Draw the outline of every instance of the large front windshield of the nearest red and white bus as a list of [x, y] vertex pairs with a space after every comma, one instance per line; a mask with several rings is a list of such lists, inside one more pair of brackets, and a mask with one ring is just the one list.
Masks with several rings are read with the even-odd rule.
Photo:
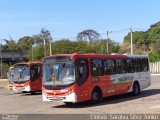
[[73, 63], [53, 60], [43, 64], [43, 85], [63, 86], [75, 82], [75, 67]]

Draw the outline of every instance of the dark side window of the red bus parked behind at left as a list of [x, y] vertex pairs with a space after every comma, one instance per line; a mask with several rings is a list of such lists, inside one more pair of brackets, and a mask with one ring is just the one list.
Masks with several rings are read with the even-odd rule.
[[31, 79], [32, 81], [40, 77], [40, 65], [31, 66]]

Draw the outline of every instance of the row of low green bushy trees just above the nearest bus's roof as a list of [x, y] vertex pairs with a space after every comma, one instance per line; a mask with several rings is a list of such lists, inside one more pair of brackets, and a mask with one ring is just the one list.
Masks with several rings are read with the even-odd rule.
[[[68, 39], [61, 39], [52, 43], [53, 54], [72, 54], [75, 52], [80, 53], [106, 53], [107, 40], [94, 41], [92, 44], [88, 44], [86, 41], [72, 41]], [[110, 40], [109, 51], [110, 53], [117, 53], [120, 49], [118, 43]], [[33, 51], [32, 51], [33, 50]], [[34, 60], [41, 60], [44, 57], [44, 46], [38, 45], [29, 51], [29, 59], [32, 60], [32, 53]], [[49, 55], [49, 44], [46, 45], [46, 53]]]

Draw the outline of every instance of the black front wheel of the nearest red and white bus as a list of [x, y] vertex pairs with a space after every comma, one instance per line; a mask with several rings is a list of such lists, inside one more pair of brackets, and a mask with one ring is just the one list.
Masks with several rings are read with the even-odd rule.
[[102, 92], [100, 89], [93, 90], [91, 101], [93, 104], [97, 104], [102, 101]]

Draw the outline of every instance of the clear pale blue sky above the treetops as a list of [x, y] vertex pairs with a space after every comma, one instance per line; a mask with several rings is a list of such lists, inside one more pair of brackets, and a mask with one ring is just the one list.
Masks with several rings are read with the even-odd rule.
[[123, 42], [129, 28], [145, 31], [160, 21], [160, 0], [0, 0], [0, 39], [39, 34], [75, 40], [93, 29], [101, 38]]

